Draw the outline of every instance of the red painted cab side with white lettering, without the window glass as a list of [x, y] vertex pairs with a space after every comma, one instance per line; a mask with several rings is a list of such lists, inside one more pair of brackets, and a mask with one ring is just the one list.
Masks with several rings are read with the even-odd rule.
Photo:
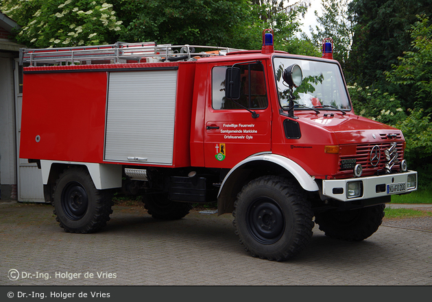
[[[259, 57], [263, 64], [268, 59], [268, 56], [259, 55]], [[193, 104], [195, 119], [191, 129], [193, 166], [232, 168], [250, 155], [272, 151], [272, 101], [269, 101], [267, 108], [254, 110], [260, 114], [259, 118], [252, 118], [252, 114], [243, 109], [215, 110], [212, 108], [212, 68], [234, 64], [231, 61], [238, 59], [237, 55], [230, 55], [223, 60], [209, 58], [197, 63], [198, 82], [195, 82]], [[268, 91], [267, 95], [269, 95]], [[208, 127], [219, 128], [208, 129]], [[224, 158], [218, 160], [219, 151], [224, 151]]]

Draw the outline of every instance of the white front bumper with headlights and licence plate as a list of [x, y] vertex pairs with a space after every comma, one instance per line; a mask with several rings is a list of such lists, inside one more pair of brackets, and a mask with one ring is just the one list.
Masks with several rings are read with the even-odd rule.
[[[408, 176], [415, 177], [415, 182], [408, 182]], [[352, 185], [359, 185], [358, 194], [350, 196]], [[405, 184], [405, 188], [404, 188]], [[411, 186], [409, 186], [411, 184]], [[386, 174], [380, 176], [356, 177], [350, 179], [325, 179], [322, 181], [322, 195], [338, 201], [356, 201], [386, 197], [392, 194], [406, 194], [417, 190], [418, 179], [416, 171]], [[351, 190], [352, 192], [352, 190]]]

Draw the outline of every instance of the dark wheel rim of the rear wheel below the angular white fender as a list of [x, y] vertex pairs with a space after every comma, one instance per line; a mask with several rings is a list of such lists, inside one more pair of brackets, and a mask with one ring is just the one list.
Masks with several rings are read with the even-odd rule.
[[77, 182], [67, 184], [62, 192], [62, 209], [66, 216], [73, 220], [80, 220], [87, 212], [88, 195], [86, 190]]

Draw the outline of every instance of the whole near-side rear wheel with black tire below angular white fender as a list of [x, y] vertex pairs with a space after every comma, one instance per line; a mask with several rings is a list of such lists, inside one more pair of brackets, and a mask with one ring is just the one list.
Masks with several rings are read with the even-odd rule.
[[71, 167], [58, 177], [53, 194], [56, 221], [64, 231], [92, 233], [110, 220], [111, 194], [97, 190], [85, 168]]

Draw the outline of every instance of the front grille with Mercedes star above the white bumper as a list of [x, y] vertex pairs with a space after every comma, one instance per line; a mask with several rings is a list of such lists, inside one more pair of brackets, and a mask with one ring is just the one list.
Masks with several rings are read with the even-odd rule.
[[[346, 162], [354, 162], [355, 164], [361, 164], [363, 168], [363, 176], [373, 175], [375, 173], [385, 173], [385, 164], [387, 163], [387, 159], [385, 156], [385, 150], [389, 150], [392, 147], [393, 142], [381, 142], [381, 143], [370, 143], [370, 144], [358, 144], [355, 155], [346, 155], [339, 157], [338, 164], [338, 174], [342, 175], [352, 175], [353, 171], [350, 165], [347, 165]], [[376, 162], [376, 166], [373, 166], [370, 162], [370, 153], [372, 149], [378, 146], [380, 149], [380, 159], [379, 162]], [[403, 142], [396, 142], [396, 151], [397, 151], [397, 161], [401, 162], [403, 160]], [[346, 168], [348, 166], [349, 168]], [[392, 167], [392, 173], [399, 171], [399, 165], [394, 164]]]

